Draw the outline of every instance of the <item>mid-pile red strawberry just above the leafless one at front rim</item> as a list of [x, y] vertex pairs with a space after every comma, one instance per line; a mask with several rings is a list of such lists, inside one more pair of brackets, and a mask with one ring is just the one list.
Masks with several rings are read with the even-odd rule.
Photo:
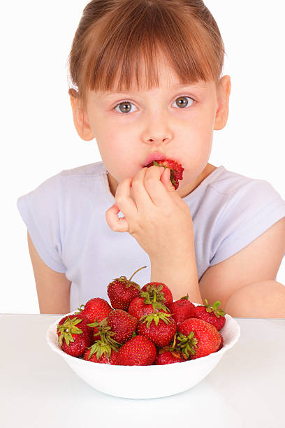
[[[114, 341], [118, 343], [125, 343], [135, 333], [138, 320], [129, 313], [122, 309], [115, 309], [110, 312], [108, 317], [101, 322], [101, 324], [108, 324], [110, 330], [115, 334], [112, 336]], [[105, 326], [103, 324], [103, 327]]]

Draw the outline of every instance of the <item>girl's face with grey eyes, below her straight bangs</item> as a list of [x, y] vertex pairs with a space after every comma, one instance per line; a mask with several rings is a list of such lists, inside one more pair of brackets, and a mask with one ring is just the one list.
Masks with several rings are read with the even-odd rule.
[[[224, 116], [230, 77], [221, 79], [224, 84], [219, 91], [214, 82], [202, 80], [180, 87], [175, 73], [166, 64], [159, 64], [159, 88], [125, 93], [89, 92], [86, 114], [90, 134], [96, 138], [109, 172], [113, 196], [117, 184], [135, 176], [153, 152], [182, 164], [183, 180], [177, 189], [181, 197], [214, 169], [207, 162], [213, 130], [224, 127], [228, 117], [228, 111]], [[224, 121], [217, 117], [217, 112], [224, 112]]]

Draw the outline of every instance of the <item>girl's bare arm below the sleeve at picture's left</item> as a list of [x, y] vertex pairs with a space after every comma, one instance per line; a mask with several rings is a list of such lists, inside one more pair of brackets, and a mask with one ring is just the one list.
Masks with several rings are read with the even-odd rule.
[[69, 313], [71, 281], [66, 278], [64, 273], [53, 271], [43, 262], [31, 241], [29, 232], [28, 245], [40, 313]]

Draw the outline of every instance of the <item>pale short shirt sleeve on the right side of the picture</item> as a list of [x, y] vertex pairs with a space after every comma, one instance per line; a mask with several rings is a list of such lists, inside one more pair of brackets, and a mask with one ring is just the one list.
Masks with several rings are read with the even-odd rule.
[[217, 222], [210, 266], [242, 250], [284, 216], [285, 201], [267, 181], [251, 180], [235, 190]]

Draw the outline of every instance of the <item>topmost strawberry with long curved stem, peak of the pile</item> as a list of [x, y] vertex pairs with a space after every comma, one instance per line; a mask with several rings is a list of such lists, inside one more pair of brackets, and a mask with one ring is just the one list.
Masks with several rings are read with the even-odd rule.
[[[144, 269], [147, 266], [143, 266], [140, 269]], [[140, 271], [138, 269], [133, 276]], [[120, 276], [115, 278], [107, 287], [108, 296], [111, 302], [111, 305], [114, 309], [123, 309], [127, 311], [131, 301], [140, 294], [140, 285], [126, 279], [126, 276]]]

